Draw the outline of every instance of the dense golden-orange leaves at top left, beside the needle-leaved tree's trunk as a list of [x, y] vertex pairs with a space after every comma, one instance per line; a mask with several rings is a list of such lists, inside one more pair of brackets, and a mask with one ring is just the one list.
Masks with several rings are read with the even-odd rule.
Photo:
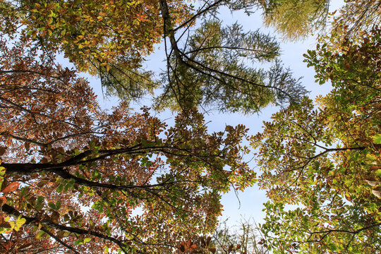
[[[13, 2], [11, 2], [13, 4]], [[135, 67], [162, 36], [156, 1], [17, 1], [25, 32], [50, 49], [63, 51], [81, 71], [112, 65]], [[169, 1], [174, 22], [188, 7]], [[181, 9], [182, 12], [176, 11]], [[181, 14], [182, 13], [182, 14]]]

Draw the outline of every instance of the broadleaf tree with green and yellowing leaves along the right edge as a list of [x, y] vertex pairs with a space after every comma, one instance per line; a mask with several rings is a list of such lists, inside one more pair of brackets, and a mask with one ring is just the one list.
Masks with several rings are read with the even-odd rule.
[[334, 32], [308, 51], [317, 82], [333, 90], [279, 111], [252, 138], [274, 253], [380, 252], [380, 32]]

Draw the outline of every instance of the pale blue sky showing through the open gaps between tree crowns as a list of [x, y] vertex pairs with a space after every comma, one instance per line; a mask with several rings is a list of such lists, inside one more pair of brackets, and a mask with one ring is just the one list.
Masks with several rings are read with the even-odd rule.
[[[339, 6], [344, 4], [343, 0], [332, 0], [330, 11], [334, 11]], [[330, 85], [318, 85], [314, 82], [315, 72], [313, 68], [307, 68], [306, 63], [303, 62], [303, 54], [306, 54], [308, 49], [315, 49], [316, 36], [313, 35], [308, 37], [306, 40], [299, 42], [282, 42], [279, 35], [277, 35], [274, 30], [271, 28], [265, 28], [262, 25], [262, 20], [260, 12], [254, 13], [254, 15], [246, 16], [243, 12], [231, 13], [229, 10], [221, 10], [220, 16], [224, 23], [231, 24], [236, 21], [243, 25], [244, 30], [257, 30], [260, 28], [262, 32], [269, 33], [279, 38], [281, 42], [282, 55], [281, 59], [285, 67], [291, 68], [294, 73], [295, 78], [303, 77], [301, 82], [310, 91], [310, 98], [315, 98], [317, 95], [325, 95], [330, 90]], [[165, 69], [164, 62], [164, 47], [162, 44], [155, 46], [155, 53], [147, 57], [146, 66], [148, 69], [159, 72], [160, 69]], [[102, 89], [100, 81], [97, 78], [92, 78], [88, 75], [85, 75], [90, 81], [90, 85], [94, 87], [96, 94], [99, 98], [99, 104], [104, 109], [110, 109], [112, 106], [118, 104], [118, 99], [115, 97], [104, 98], [102, 95]], [[138, 104], [133, 104], [132, 106], [135, 109], [139, 109], [149, 102], [143, 100]], [[205, 120], [208, 123], [209, 131], [222, 131], [226, 125], [235, 126], [236, 124], [243, 124], [250, 129], [249, 134], [255, 135], [256, 133], [262, 131], [262, 122], [270, 121], [270, 117], [274, 114], [279, 108], [270, 106], [262, 111], [259, 114], [253, 115], [243, 115], [243, 114], [220, 114], [217, 111], [210, 111], [205, 114]], [[164, 111], [158, 114], [159, 119], [166, 119], [166, 122], [173, 122], [174, 116], [176, 114], [171, 113], [170, 111]], [[247, 144], [248, 145], [248, 144]], [[250, 166], [253, 167], [253, 170], [258, 171], [255, 168], [255, 162], [251, 162]], [[252, 188], [247, 188], [243, 192], [235, 193], [231, 191], [222, 197], [222, 205], [224, 205], [224, 211], [222, 213], [222, 218], [220, 221], [228, 219], [227, 224], [233, 226], [234, 224], [239, 224], [241, 219], [251, 219], [257, 223], [262, 223], [263, 218], [265, 217], [263, 209], [263, 203], [267, 202], [265, 196], [265, 191], [258, 189], [258, 186]]]

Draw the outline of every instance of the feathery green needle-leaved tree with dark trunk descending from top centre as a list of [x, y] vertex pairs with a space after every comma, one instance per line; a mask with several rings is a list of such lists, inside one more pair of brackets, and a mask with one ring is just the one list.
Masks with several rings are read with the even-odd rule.
[[[190, 20], [174, 26], [167, 1], [160, 0], [164, 20], [167, 71], [164, 93], [157, 97], [158, 109], [186, 109], [201, 105], [220, 111], [258, 112], [270, 103], [294, 103], [306, 90], [279, 63], [279, 44], [259, 31], [244, 32], [241, 25], [222, 26], [213, 16], [205, 18], [200, 28], [186, 37], [189, 23], [219, 6], [242, 8], [241, 1], [215, 1], [205, 4]], [[183, 30], [186, 30], [185, 32]], [[176, 37], [177, 33], [179, 37]], [[272, 63], [265, 71], [246, 64]]]

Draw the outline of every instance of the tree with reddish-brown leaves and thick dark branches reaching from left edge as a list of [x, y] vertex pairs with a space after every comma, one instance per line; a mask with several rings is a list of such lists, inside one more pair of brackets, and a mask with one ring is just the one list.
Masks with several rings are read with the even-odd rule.
[[253, 184], [244, 126], [107, 113], [54, 54], [28, 41], [0, 51], [2, 252], [173, 253], [214, 230], [221, 193]]

